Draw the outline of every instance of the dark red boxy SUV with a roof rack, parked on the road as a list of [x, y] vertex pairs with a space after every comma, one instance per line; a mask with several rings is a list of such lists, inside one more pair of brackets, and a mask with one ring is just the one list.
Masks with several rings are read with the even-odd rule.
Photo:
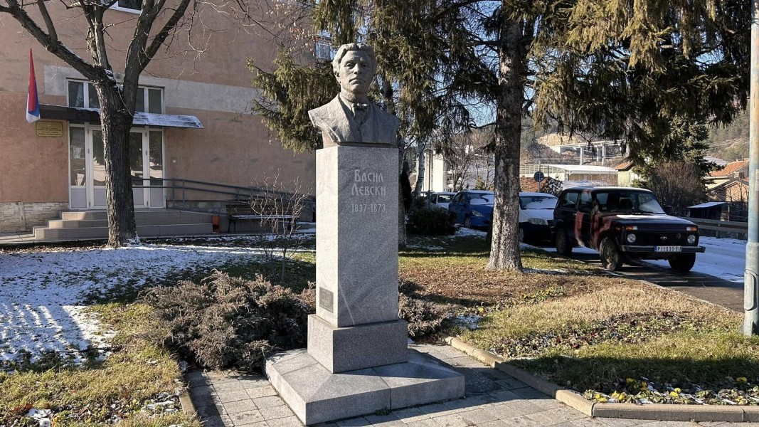
[[666, 259], [669, 267], [689, 271], [696, 262], [698, 226], [671, 217], [644, 188], [580, 187], [559, 195], [553, 210], [556, 251], [572, 247], [598, 251], [601, 264], [617, 270], [631, 259]]

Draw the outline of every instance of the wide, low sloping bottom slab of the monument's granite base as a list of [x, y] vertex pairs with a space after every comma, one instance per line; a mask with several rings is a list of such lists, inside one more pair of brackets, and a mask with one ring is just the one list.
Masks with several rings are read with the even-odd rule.
[[277, 353], [266, 376], [305, 425], [464, 396], [464, 375], [432, 356], [408, 351], [408, 362], [333, 374], [305, 349]]

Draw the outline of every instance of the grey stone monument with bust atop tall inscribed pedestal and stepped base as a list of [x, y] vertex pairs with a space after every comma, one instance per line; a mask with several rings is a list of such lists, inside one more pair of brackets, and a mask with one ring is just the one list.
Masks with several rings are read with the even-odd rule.
[[317, 314], [307, 350], [277, 353], [266, 375], [306, 425], [464, 395], [464, 377], [408, 349], [398, 318], [398, 119], [367, 93], [364, 44], [332, 62], [340, 93], [309, 116], [317, 150]]

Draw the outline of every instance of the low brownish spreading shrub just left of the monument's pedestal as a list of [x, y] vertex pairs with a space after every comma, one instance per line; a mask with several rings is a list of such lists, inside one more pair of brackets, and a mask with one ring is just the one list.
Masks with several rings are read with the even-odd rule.
[[270, 350], [306, 342], [307, 302], [261, 276], [214, 270], [200, 283], [150, 289], [144, 299], [168, 325], [165, 344], [206, 368], [259, 369]]

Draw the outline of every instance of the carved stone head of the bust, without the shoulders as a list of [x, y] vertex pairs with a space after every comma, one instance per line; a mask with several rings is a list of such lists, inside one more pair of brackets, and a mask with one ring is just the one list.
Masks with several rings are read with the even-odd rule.
[[376, 71], [374, 49], [364, 43], [340, 46], [332, 60], [332, 71], [340, 84], [340, 94], [350, 101], [366, 102]]

